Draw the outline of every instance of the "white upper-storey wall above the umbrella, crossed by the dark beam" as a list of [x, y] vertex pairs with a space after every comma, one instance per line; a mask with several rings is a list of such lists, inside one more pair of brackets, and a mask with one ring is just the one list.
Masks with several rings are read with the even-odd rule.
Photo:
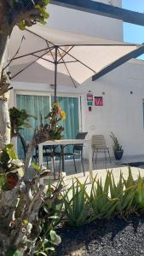
[[[113, 3], [117, 7], [122, 6], [122, 0], [101, 0], [99, 2]], [[46, 26], [88, 36], [123, 41], [122, 20], [114, 20], [53, 4], [48, 5], [48, 13], [49, 19]]]

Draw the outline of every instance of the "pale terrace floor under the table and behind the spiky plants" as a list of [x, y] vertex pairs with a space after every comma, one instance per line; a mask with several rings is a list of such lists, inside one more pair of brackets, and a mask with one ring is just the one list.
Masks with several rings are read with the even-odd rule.
[[[123, 172], [124, 177], [128, 177], [128, 165], [127, 163], [134, 163], [134, 166], [131, 166], [131, 171], [133, 174], [134, 179], [136, 180], [138, 177], [139, 172], [141, 173], [141, 177], [144, 177], [144, 156], [142, 157], [135, 157], [135, 158], [125, 158], [122, 160], [112, 160], [112, 163], [110, 163], [107, 160], [107, 163], [105, 160], [98, 160], [97, 164], [95, 165], [95, 162], [93, 163], [93, 177], [97, 175], [97, 177], [101, 177], [102, 183], [105, 181], [105, 177], [107, 175], [107, 170], [112, 170], [113, 176], [115, 178], [115, 182], [118, 182], [119, 174], [120, 172]], [[83, 169], [81, 166], [80, 160], [77, 160], [76, 162], [78, 173], [74, 172], [74, 166], [73, 166], [73, 161], [68, 160], [65, 163], [65, 170], [66, 172], [62, 173], [65, 178], [64, 182], [67, 187], [71, 186], [72, 184], [72, 179], [74, 177], [78, 177], [78, 179], [84, 183], [85, 179], [87, 178], [87, 184], [90, 188], [90, 180], [89, 180], [89, 163], [88, 160], [84, 161], [84, 169], [85, 169], [85, 177], [83, 173]], [[58, 171], [59, 168], [59, 163], [56, 162], [55, 164], [55, 170]], [[50, 165], [49, 165], [50, 169]], [[51, 176], [53, 178], [53, 174]], [[43, 183], [47, 184], [47, 178], [44, 178]]]

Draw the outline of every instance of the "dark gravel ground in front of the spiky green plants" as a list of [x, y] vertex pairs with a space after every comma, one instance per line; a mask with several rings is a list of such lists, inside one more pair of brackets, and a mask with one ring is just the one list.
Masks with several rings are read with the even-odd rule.
[[144, 256], [144, 216], [98, 220], [80, 228], [63, 226], [56, 256]]

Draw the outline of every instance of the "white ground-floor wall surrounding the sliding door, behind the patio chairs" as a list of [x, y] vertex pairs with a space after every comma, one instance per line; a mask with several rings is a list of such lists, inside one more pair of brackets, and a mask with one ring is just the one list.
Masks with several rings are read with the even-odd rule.
[[[74, 89], [58, 86], [62, 95], [82, 96], [83, 131], [103, 134], [111, 148], [110, 132], [118, 137], [123, 145], [124, 155], [144, 154], [144, 127], [142, 102], [144, 100], [144, 63], [131, 61], [113, 70], [95, 82], [85, 82]], [[49, 84], [29, 84], [13, 82], [14, 90], [53, 91]], [[93, 107], [89, 112], [86, 94], [91, 90], [94, 96], [103, 96], [103, 107]], [[132, 94], [130, 93], [132, 91]], [[13, 94], [13, 92], [11, 92]], [[105, 93], [104, 95], [102, 93]], [[13, 96], [11, 104], [13, 104]]]

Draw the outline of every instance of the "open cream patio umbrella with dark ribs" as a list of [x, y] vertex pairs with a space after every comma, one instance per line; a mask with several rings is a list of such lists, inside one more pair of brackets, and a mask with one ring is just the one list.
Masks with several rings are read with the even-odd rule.
[[58, 73], [69, 75], [77, 87], [77, 83], [83, 84], [113, 61], [140, 47], [139, 44], [90, 38], [46, 26], [33, 26], [24, 32], [15, 27], [9, 44], [9, 65], [14, 70], [13, 79], [36, 63], [54, 71], [56, 101]]

